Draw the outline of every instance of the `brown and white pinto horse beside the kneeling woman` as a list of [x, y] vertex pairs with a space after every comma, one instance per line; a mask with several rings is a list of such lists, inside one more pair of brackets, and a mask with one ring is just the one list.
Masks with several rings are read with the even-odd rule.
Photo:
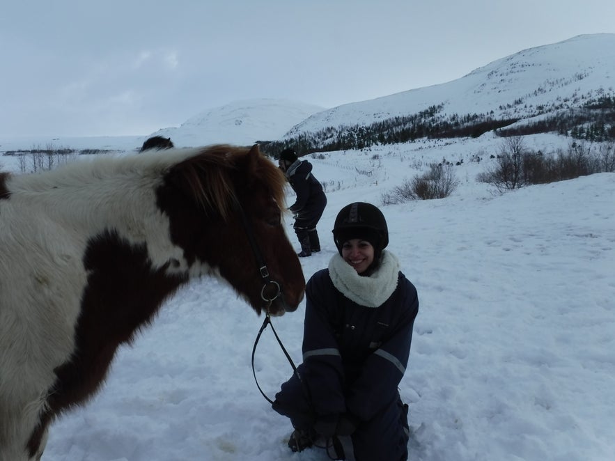
[[54, 419], [189, 280], [227, 281], [258, 315], [295, 311], [285, 181], [256, 145], [0, 173], [0, 461], [40, 460]]

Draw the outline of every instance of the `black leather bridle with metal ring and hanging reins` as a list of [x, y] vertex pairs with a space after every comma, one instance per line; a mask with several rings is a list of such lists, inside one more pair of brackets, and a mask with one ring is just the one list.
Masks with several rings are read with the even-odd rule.
[[[263, 397], [265, 397], [265, 400], [267, 400], [267, 402], [273, 404], [273, 400], [271, 400], [269, 397], [267, 397], [267, 395], [265, 395], [265, 392], [263, 392], [263, 389], [260, 389], [260, 385], [258, 384], [258, 380], [256, 379], [256, 369], [254, 368], [254, 355], [256, 354], [256, 345], [258, 345], [258, 341], [260, 340], [260, 335], [263, 334], [263, 331], [265, 331], [265, 328], [267, 328], [267, 325], [271, 325], [271, 331], [273, 331], [273, 334], [275, 338], [277, 339], [278, 344], [280, 345], [282, 349], [282, 352], [284, 352], [284, 355], [286, 355], [286, 359], [288, 359], [290, 366], [293, 367], [293, 372], [297, 375], [297, 377], [299, 377], [299, 381], [301, 382], [303, 381], [302, 381], [301, 375], [299, 375], [299, 372], [297, 371], [297, 367], [295, 366], [293, 359], [290, 358], [290, 354], [288, 354], [286, 347], [284, 347], [284, 345], [282, 344], [282, 341], [280, 340], [277, 334], [277, 331], [275, 331], [273, 324], [271, 322], [271, 315], [269, 312], [269, 308], [271, 307], [272, 302], [274, 302], [274, 300], [277, 299], [277, 297], [281, 295], [280, 284], [277, 283], [277, 281], [274, 281], [271, 279], [271, 276], [269, 274], [269, 269], [267, 269], [267, 264], [265, 263], [265, 258], [263, 258], [263, 253], [261, 253], [260, 247], [258, 247], [258, 242], [256, 242], [256, 237], [254, 236], [254, 231], [252, 229], [251, 223], [248, 217], [246, 216], [246, 213], [244, 212], [242, 206], [239, 203], [236, 203], [235, 206], [238, 209], [238, 212], [240, 214], [242, 224], [244, 226], [244, 230], [246, 231], [248, 241], [250, 242], [250, 247], [252, 248], [252, 252], [254, 253], [254, 258], [256, 258], [256, 267], [258, 267], [258, 274], [260, 275], [260, 278], [263, 279], [263, 288], [260, 289], [260, 299], [263, 299], [263, 301], [267, 303], [264, 308], [265, 320], [263, 320], [263, 325], [260, 327], [260, 330], [258, 330], [256, 341], [254, 341], [254, 347], [252, 347], [252, 374], [254, 375], [254, 381], [256, 382], [256, 387], [258, 387], [258, 390], [260, 391], [260, 393], [263, 394]], [[265, 288], [271, 285], [276, 288], [275, 295], [273, 297], [266, 297]]]

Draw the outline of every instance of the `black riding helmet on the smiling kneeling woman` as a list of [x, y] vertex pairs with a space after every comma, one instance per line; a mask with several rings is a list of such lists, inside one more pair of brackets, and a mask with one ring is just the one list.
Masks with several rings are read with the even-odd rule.
[[344, 242], [358, 238], [374, 247], [374, 259], [379, 260], [389, 244], [389, 228], [384, 214], [371, 203], [355, 202], [340, 210], [333, 227], [333, 240], [340, 255]]

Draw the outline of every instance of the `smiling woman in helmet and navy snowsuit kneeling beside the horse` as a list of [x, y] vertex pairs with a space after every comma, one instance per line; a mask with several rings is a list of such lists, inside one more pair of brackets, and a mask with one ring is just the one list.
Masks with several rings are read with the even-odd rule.
[[335, 220], [339, 251], [306, 286], [303, 363], [276, 394], [290, 418], [292, 451], [327, 448], [331, 459], [407, 459], [405, 373], [419, 299], [400, 272], [387, 221], [369, 203], [351, 203]]

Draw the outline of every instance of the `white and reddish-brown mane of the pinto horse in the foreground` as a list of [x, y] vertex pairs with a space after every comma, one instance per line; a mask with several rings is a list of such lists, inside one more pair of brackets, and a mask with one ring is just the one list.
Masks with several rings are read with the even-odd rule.
[[[256, 151], [255, 151], [256, 150]], [[236, 173], [236, 174], [234, 174]], [[192, 196], [205, 212], [219, 214], [226, 220], [238, 203], [238, 187], [248, 191], [258, 183], [269, 189], [281, 210], [285, 210], [286, 178], [267, 157], [252, 148], [219, 144], [203, 148], [153, 150], [147, 155], [97, 157], [83, 159], [44, 173], [10, 175], [0, 173], [0, 198], [13, 192], [47, 194], [74, 189], [69, 196], [109, 182], [109, 187], [123, 187], [120, 194], [132, 194], [143, 184], [140, 179], [162, 185], [169, 178]], [[17, 183], [11, 179], [17, 180]], [[114, 180], [120, 182], [113, 183]], [[7, 184], [3, 192], [3, 182]], [[125, 182], [125, 185], [121, 185]], [[110, 191], [109, 191], [110, 192]]]

